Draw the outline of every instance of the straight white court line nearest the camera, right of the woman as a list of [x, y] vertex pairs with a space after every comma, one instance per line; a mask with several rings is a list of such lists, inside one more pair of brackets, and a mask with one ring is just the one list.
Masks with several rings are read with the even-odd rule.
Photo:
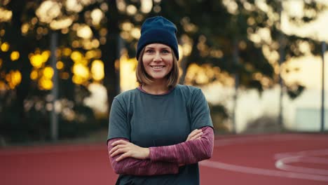
[[213, 160], [203, 160], [200, 162], [200, 165], [206, 167], [214, 167], [221, 170], [229, 170], [233, 172], [242, 172], [247, 174], [261, 174], [271, 177], [288, 177], [293, 179], [307, 179], [307, 180], [315, 180], [315, 181], [328, 181], [327, 176], [319, 175], [319, 174], [303, 174], [298, 172], [285, 172], [280, 170], [268, 170], [264, 168], [258, 167], [247, 167], [242, 165], [231, 165], [227, 163], [221, 163]]

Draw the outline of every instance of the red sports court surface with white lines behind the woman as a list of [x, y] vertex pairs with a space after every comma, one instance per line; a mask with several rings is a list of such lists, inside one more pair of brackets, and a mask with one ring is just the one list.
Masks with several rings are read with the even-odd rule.
[[[0, 184], [115, 184], [106, 144], [0, 149]], [[200, 184], [328, 184], [328, 135], [216, 137]]]

